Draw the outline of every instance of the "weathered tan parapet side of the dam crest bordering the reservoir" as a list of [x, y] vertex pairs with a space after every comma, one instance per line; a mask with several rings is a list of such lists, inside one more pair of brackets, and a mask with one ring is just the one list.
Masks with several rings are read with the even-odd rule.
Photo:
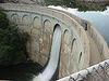
[[[55, 10], [55, 9], [53, 9]], [[85, 19], [77, 17], [76, 15], [70, 14], [64, 11], [60, 11], [69, 14], [72, 18], [74, 18], [85, 30], [88, 39], [89, 39], [89, 66], [95, 65], [101, 60], [109, 58], [109, 49], [108, 44], [101, 35], [96, 30], [94, 25]]]

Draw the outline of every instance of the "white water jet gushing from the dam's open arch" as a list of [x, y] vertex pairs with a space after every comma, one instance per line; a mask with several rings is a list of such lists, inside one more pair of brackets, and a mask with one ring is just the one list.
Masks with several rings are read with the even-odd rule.
[[60, 46], [61, 46], [61, 27], [57, 25], [53, 32], [49, 63], [46, 69], [43, 71], [43, 73], [39, 73], [37, 77], [35, 77], [33, 81], [49, 81], [52, 78], [59, 62]]

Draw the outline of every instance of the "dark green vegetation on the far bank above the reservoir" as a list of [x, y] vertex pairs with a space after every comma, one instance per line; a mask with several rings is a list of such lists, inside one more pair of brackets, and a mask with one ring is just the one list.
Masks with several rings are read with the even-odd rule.
[[105, 11], [109, 3], [106, 2], [86, 2], [77, 0], [46, 0], [47, 5], [61, 5], [73, 9], [78, 9], [78, 11]]

